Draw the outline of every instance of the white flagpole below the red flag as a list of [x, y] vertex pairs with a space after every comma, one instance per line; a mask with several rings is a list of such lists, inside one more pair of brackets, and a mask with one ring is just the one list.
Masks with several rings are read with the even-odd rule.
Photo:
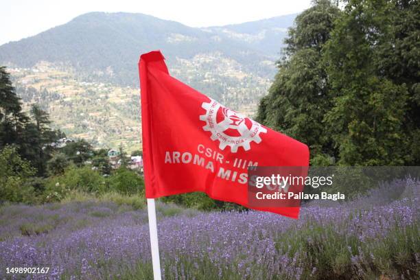
[[159, 259], [159, 243], [157, 239], [156, 208], [154, 198], [148, 198], [150, 248], [152, 249], [152, 265], [154, 280], [161, 280], [161, 261]]

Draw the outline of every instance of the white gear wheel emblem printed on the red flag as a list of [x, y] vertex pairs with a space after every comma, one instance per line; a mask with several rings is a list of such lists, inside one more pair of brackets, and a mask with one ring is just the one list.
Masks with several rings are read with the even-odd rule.
[[237, 152], [239, 147], [248, 151], [250, 143], [260, 143], [259, 134], [267, 132], [257, 121], [236, 113], [211, 98], [210, 102], [203, 102], [201, 106], [206, 110], [205, 115], [200, 115], [200, 120], [206, 122], [202, 129], [211, 132], [211, 140], [220, 142], [220, 150], [229, 145], [231, 152]]

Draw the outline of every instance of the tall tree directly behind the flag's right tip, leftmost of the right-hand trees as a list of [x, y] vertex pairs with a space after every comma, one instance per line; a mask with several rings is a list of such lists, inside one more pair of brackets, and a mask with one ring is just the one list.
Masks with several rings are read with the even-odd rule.
[[323, 124], [331, 107], [323, 47], [338, 16], [338, 7], [325, 0], [296, 16], [285, 40], [285, 57], [257, 114], [261, 123], [310, 145], [312, 163], [318, 165], [331, 164], [333, 154]]

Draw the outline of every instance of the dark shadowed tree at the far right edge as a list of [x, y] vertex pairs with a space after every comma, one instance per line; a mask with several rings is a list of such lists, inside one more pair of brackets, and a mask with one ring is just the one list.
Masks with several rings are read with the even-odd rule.
[[391, 1], [386, 20], [385, 39], [375, 44], [375, 65], [379, 75], [407, 86], [403, 126], [412, 154], [406, 164], [420, 165], [420, 2]]

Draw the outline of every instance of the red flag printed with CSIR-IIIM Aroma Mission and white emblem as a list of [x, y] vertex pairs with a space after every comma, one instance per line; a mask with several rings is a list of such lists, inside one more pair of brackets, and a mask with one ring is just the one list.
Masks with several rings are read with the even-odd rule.
[[307, 166], [307, 146], [172, 78], [160, 51], [139, 61], [146, 198], [191, 191], [292, 218], [299, 207], [252, 207], [248, 166]]

